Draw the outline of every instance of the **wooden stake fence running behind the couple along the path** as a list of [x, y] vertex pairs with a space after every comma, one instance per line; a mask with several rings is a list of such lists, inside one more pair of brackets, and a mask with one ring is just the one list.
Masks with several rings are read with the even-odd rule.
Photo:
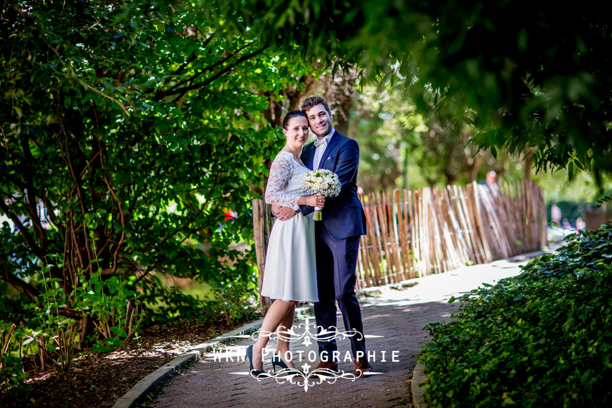
[[[532, 180], [393, 190], [361, 199], [368, 231], [357, 256], [358, 287], [509, 258], [546, 244], [546, 205]], [[263, 200], [253, 200], [260, 287], [274, 222], [267, 208]]]

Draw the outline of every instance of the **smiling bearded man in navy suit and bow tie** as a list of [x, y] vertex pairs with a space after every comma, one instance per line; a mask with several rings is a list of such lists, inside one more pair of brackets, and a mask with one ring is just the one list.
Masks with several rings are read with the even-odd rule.
[[[371, 371], [365, 351], [364, 328], [361, 310], [355, 295], [355, 273], [360, 236], [365, 234], [365, 215], [357, 198], [357, 166], [359, 146], [357, 142], [340, 135], [332, 127], [332, 114], [321, 97], [310, 97], [302, 103], [310, 130], [317, 140], [304, 146], [302, 163], [310, 169], [328, 169], [335, 172], [342, 184], [337, 197], [327, 197], [323, 209], [323, 221], [315, 222], [316, 278], [319, 302], [315, 303], [316, 324], [329, 330], [336, 326], [336, 305], [342, 312], [345, 330], [354, 330], [351, 350], [357, 374]], [[312, 212], [312, 207], [302, 206], [302, 213]], [[273, 206], [279, 220], [288, 220], [296, 212], [287, 207]], [[318, 341], [321, 361], [316, 368], [338, 369], [338, 352], [335, 339]]]

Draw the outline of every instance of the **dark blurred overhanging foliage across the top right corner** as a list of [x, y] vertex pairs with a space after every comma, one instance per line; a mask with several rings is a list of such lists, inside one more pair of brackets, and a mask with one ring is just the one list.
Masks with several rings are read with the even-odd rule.
[[524, 1], [223, 4], [277, 45], [359, 64], [366, 78], [400, 75], [421, 111], [433, 104], [473, 125], [493, 155], [532, 147], [537, 168], [570, 178], [612, 171], [612, 37], [600, 2], [555, 13]]

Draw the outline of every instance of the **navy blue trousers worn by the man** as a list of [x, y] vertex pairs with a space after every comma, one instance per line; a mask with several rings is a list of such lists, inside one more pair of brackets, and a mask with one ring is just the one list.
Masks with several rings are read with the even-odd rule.
[[[336, 327], [336, 302], [342, 313], [345, 330], [357, 330], [352, 336], [351, 351], [365, 354], [364, 327], [361, 321], [359, 301], [355, 295], [355, 273], [360, 236], [335, 239], [323, 221], [315, 222], [316, 279], [319, 302], [315, 303], [316, 324], [329, 329]], [[319, 354], [323, 360], [332, 360], [338, 349], [335, 339], [318, 341]], [[325, 353], [326, 352], [326, 353]]]

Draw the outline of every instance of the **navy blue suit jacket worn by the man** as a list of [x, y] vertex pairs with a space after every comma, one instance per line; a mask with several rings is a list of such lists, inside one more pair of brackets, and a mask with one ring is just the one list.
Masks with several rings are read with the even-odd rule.
[[[313, 169], [315, 144], [308, 143], [302, 149], [300, 159], [305, 166]], [[336, 130], [321, 157], [322, 169], [338, 175], [342, 184], [337, 197], [328, 197], [323, 207], [323, 222], [335, 239], [365, 234], [365, 214], [357, 196], [357, 168], [359, 166], [359, 145], [356, 141]], [[302, 213], [312, 212], [312, 207], [300, 207]]]

